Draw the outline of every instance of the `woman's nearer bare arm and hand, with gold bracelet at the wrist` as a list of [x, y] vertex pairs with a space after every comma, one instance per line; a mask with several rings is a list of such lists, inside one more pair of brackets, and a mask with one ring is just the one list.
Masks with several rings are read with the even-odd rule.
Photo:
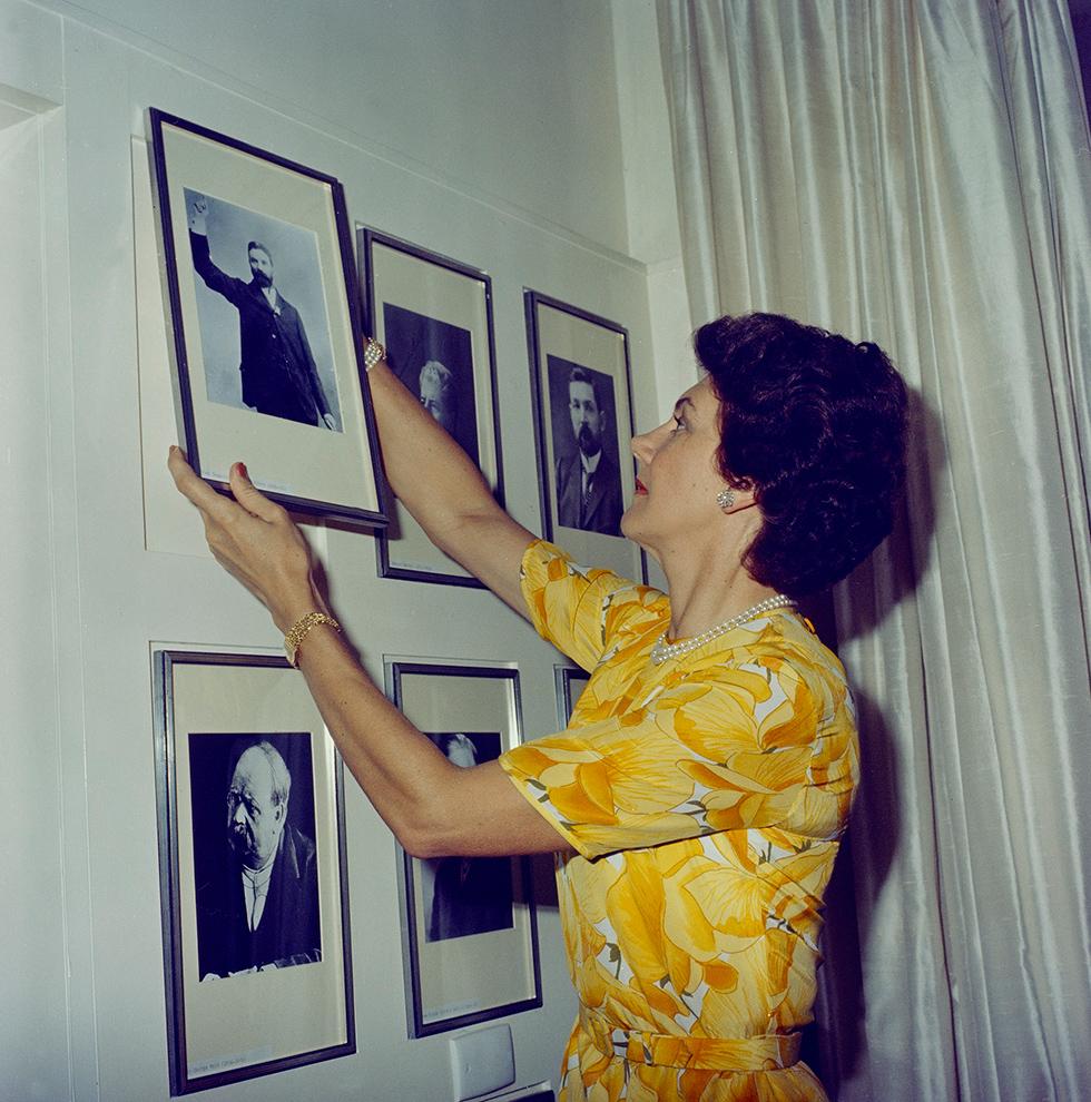
[[[197, 478], [177, 447], [168, 464], [179, 491], [200, 512], [217, 561], [265, 604], [281, 631], [309, 612], [328, 613], [306, 541], [287, 512], [254, 488], [242, 464], [230, 470], [234, 501]], [[522, 602], [518, 559], [512, 578]], [[566, 848], [560, 833], [498, 761], [473, 768], [449, 761], [383, 696], [327, 622], [306, 636], [297, 659], [345, 765], [409, 853], [476, 856]]]

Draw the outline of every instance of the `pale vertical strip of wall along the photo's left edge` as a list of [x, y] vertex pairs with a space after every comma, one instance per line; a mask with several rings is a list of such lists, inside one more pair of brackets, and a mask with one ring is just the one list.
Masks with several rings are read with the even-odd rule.
[[[0, 617], [0, 745], [7, 762], [0, 771], [0, 854], [8, 885], [3, 927], [11, 946], [0, 965], [0, 1095], [9, 1069], [18, 1067], [27, 1098], [52, 1099], [68, 1091], [67, 1062], [55, 1065], [43, 1059], [49, 1050], [42, 1042], [65, 1051], [68, 907], [58, 787], [60, 656], [53, 640], [59, 606], [70, 592], [60, 592], [67, 587], [52, 577], [49, 555], [42, 551], [56, 527], [48, 492], [53, 387], [45, 340], [49, 288], [40, 233], [48, 199], [40, 166], [46, 148], [52, 145], [56, 152], [57, 147], [33, 105], [23, 102], [31, 109], [10, 104], [0, 108], [0, 589], [6, 594]], [[67, 496], [58, 486], [57, 503]], [[79, 888], [73, 885], [73, 902]]]

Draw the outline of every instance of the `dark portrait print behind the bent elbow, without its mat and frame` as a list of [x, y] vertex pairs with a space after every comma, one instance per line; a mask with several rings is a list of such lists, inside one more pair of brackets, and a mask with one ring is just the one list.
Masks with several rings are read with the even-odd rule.
[[[463, 768], [500, 757], [498, 732], [453, 732], [429, 738]], [[511, 929], [510, 857], [440, 857], [420, 862], [426, 942]]]

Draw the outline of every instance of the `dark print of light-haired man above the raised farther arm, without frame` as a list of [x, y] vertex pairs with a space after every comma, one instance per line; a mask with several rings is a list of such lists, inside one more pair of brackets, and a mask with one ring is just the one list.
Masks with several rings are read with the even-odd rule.
[[383, 325], [391, 370], [480, 462], [470, 331], [393, 303], [383, 304]]

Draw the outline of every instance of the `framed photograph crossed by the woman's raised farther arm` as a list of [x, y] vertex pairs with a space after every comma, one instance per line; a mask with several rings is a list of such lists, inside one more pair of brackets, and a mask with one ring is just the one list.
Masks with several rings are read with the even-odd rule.
[[[358, 227], [367, 332], [386, 362], [473, 460], [503, 504], [492, 281], [409, 242]], [[382, 578], [476, 586], [394, 501], [376, 550]]]

